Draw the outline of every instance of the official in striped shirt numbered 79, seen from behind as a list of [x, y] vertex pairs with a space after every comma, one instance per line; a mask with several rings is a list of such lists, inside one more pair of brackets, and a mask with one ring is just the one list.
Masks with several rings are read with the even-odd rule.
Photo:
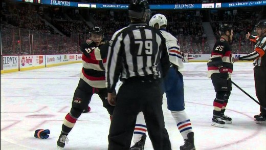
[[[171, 149], [162, 111], [161, 78], [169, 69], [166, 41], [159, 30], [149, 27], [146, 0], [128, 6], [129, 26], [118, 30], [110, 41], [106, 81], [108, 102], [116, 105], [108, 135], [108, 149], [128, 150], [136, 118], [143, 112], [154, 149]], [[119, 79], [119, 92], [113, 92]]]

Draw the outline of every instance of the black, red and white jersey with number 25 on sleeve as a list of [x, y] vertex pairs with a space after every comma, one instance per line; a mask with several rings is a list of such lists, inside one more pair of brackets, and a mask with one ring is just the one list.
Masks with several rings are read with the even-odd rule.
[[232, 48], [225, 38], [220, 37], [220, 39], [216, 41], [207, 65], [208, 78], [210, 78], [213, 73], [219, 73], [219, 66], [227, 68], [229, 78], [231, 78], [233, 72]]

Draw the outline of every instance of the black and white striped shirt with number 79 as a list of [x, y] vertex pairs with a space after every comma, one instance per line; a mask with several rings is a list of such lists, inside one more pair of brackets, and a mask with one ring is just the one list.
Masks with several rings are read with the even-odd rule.
[[132, 23], [118, 30], [110, 41], [105, 75], [108, 92], [115, 89], [119, 76], [122, 79], [147, 75], [160, 78], [167, 73], [169, 64], [161, 32], [146, 23]]

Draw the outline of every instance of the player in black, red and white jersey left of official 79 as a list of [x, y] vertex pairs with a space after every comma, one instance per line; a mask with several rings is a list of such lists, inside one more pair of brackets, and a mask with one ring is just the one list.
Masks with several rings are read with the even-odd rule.
[[82, 111], [87, 108], [92, 95], [98, 94], [107, 109], [110, 119], [112, 118], [114, 106], [107, 101], [107, 89], [105, 87], [105, 63], [109, 42], [103, 42], [103, 31], [100, 27], [93, 27], [90, 31], [90, 39], [87, 39], [80, 46], [82, 54], [82, 70], [78, 87], [75, 90], [72, 108], [66, 114], [62, 131], [57, 141], [57, 146], [64, 147], [68, 142], [68, 134], [74, 127]]

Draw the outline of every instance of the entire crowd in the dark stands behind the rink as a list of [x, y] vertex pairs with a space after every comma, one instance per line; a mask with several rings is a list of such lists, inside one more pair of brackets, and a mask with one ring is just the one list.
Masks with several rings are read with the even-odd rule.
[[[91, 1], [92, 2], [92, 1]], [[96, 1], [95, 1], [96, 2]], [[97, 1], [97, 3], [107, 1]], [[119, 3], [120, 1], [112, 1]], [[124, 1], [123, 1], [124, 2]], [[156, 4], [159, 1], [150, 1]], [[166, 1], [167, 3], [169, 1]], [[177, 1], [170, 1], [175, 3]], [[187, 3], [188, 1], [179, 1]], [[199, 1], [190, 1], [196, 3]], [[232, 1], [231, 1], [232, 2]], [[249, 53], [253, 45], [245, 35], [258, 22], [261, 10], [219, 10], [211, 12], [210, 23], [219, 35], [221, 23], [234, 26], [233, 53]], [[208, 38], [202, 25], [203, 14], [196, 10], [154, 11], [168, 20], [167, 30], [178, 38], [181, 50], [189, 54], [210, 54]], [[103, 27], [104, 39], [129, 24], [127, 10], [90, 10], [94, 25]], [[117, 17], [120, 16], [120, 17]], [[247, 19], [249, 18], [249, 19]], [[21, 3], [6, 3], [1, 9], [2, 52], [8, 54], [80, 53], [79, 45], [88, 38], [90, 26], [76, 8], [43, 7]]]

